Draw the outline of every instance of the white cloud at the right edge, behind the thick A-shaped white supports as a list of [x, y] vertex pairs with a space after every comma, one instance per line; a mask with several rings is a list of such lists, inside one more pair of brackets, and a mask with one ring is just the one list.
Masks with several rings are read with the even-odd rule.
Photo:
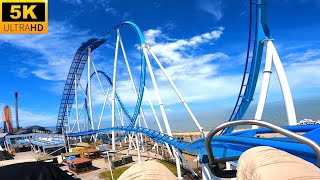
[[[320, 72], [318, 71], [320, 68], [320, 58], [315, 58], [318, 56], [316, 54], [314, 49], [303, 51], [295, 49], [294, 53], [289, 52], [284, 58], [280, 56], [294, 100], [308, 98], [309, 93], [316, 92], [316, 89], [320, 88]], [[264, 67], [262, 66], [261, 69], [264, 69]], [[274, 67], [272, 71], [268, 99], [271, 101], [281, 101], [281, 87]], [[255, 91], [256, 102], [261, 90], [262, 76], [262, 73], [260, 73]]]

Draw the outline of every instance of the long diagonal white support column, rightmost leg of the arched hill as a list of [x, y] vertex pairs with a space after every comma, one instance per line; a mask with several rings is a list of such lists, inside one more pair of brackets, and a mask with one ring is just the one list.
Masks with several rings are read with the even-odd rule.
[[193, 112], [191, 111], [191, 109], [189, 108], [187, 102], [184, 100], [184, 98], [182, 97], [182, 95], [180, 94], [178, 88], [176, 87], [176, 85], [173, 83], [172, 79], [168, 76], [166, 70], [164, 69], [164, 67], [162, 66], [162, 64], [160, 63], [159, 59], [157, 58], [157, 56], [153, 53], [153, 51], [151, 50], [151, 48], [146, 45], [150, 54], [152, 55], [152, 57], [154, 58], [154, 60], [157, 62], [157, 64], [159, 65], [160, 69], [162, 70], [163, 74], [165, 75], [165, 77], [167, 78], [167, 80], [169, 81], [170, 85], [172, 86], [172, 88], [174, 89], [174, 91], [176, 92], [176, 94], [178, 95], [179, 99], [181, 100], [182, 104], [184, 105], [184, 107], [186, 108], [186, 110], [188, 111], [191, 119], [194, 121], [194, 123], [197, 125], [200, 133], [202, 134], [202, 136], [204, 137], [205, 134], [203, 132], [203, 127], [200, 126], [198, 120], [196, 119], [196, 117], [194, 116]]

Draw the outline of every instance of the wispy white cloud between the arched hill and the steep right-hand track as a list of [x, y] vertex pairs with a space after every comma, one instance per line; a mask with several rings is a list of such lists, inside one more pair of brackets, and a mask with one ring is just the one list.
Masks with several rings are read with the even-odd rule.
[[[229, 59], [228, 55], [222, 52], [193, 52], [194, 49], [198, 49], [201, 45], [212, 44], [219, 39], [223, 30], [223, 27], [219, 27], [217, 30], [211, 32], [187, 39], [175, 40], [164, 34], [161, 29], [150, 29], [144, 32], [146, 41], [151, 46], [152, 51], [162, 64], [164, 64], [167, 74], [175, 82], [188, 102], [223, 99], [236, 95], [237, 93], [235, 89], [238, 89], [238, 86], [240, 86], [240, 84], [237, 83], [241, 80], [240, 76], [218, 75], [220, 64], [215, 61], [226, 61]], [[151, 57], [150, 59], [153, 61]], [[155, 63], [152, 62], [152, 64]], [[179, 103], [179, 99], [170, 84], [168, 84], [162, 71], [156, 67], [157, 66], [154, 66], [153, 68], [164, 104], [172, 105]], [[147, 75], [147, 78], [147, 88], [150, 91], [152, 101], [155, 103], [157, 102], [155, 91], [151, 85], [149, 75]], [[121, 88], [120, 84], [117, 86], [119, 89]], [[128, 82], [124, 82], [124, 84], [128, 85]], [[133, 98], [132, 95], [125, 93], [125, 89], [127, 88], [127, 86], [123, 88], [123, 93], [120, 95], [121, 98], [124, 96], [125, 98], [122, 99], [126, 101], [131, 99], [130, 102], [135, 102], [135, 98]], [[221, 91], [221, 89], [224, 89], [224, 91]]]

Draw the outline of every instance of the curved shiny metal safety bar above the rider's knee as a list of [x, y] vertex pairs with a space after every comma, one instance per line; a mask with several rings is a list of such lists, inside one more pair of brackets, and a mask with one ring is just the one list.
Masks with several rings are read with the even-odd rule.
[[320, 146], [317, 143], [315, 143], [314, 141], [312, 141], [306, 137], [303, 137], [299, 134], [296, 134], [294, 132], [283, 129], [279, 126], [268, 123], [268, 122], [264, 122], [264, 121], [260, 121], [260, 120], [240, 120], [240, 121], [232, 121], [232, 122], [223, 123], [223, 124], [219, 125], [218, 127], [216, 127], [215, 129], [211, 130], [209, 132], [209, 134], [207, 135], [207, 138], [205, 140], [205, 143], [206, 143], [205, 145], [206, 145], [206, 150], [208, 153], [209, 168], [210, 168], [210, 171], [214, 175], [216, 175], [218, 177], [235, 177], [235, 174], [236, 174], [235, 170], [222, 170], [222, 169], [220, 169], [218, 162], [214, 158], [214, 154], [213, 154], [212, 146], [211, 146], [211, 140], [212, 140], [213, 136], [216, 135], [220, 130], [223, 130], [223, 129], [230, 127], [230, 126], [238, 126], [238, 125], [257, 125], [257, 126], [269, 128], [276, 133], [280, 133], [280, 134], [287, 136], [287, 137], [290, 137], [300, 143], [308, 145], [316, 153], [317, 166], [320, 167]]

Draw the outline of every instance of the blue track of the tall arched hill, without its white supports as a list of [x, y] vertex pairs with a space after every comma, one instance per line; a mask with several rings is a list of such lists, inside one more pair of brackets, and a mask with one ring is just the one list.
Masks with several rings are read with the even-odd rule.
[[[116, 29], [124, 26], [124, 25], [129, 25], [131, 26], [137, 33], [140, 44], [144, 45], [145, 44], [145, 39], [142, 35], [142, 32], [140, 28], [134, 24], [133, 22], [126, 21], [123, 22], [113, 28], [111, 28], [104, 36], [100, 38], [93, 38], [88, 40], [87, 42], [83, 43], [80, 48], [77, 50], [74, 59], [72, 61], [69, 74], [66, 80], [66, 84], [63, 90], [63, 95], [60, 103], [60, 108], [59, 108], [59, 114], [58, 114], [58, 120], [57, 120], [57, 126], [56, 126], [56, 131], [57, 133], [61, 134], [63, 131], [63, 128], [65, 127], [67, 123], [67, 114], [70, 113], [74, 96], [75, 96], [75, 85], [74, 85], [74, 80], [75, 77], [77, 77], [77, 80], [80, 80], [84, 66], [87, 62], [87, 54], [88, 54], [88, 48], [91, 48], [91, 51], [93, 52], [96, 48], [104, 44], [110, 34], [115, 31]], [[142, 103], [142, 98], [143, 98], [143, 93], [144, 93], [144, 86], [145, 86], [145, 73], [146, 73], [146, 61], [144, 57], [143, 51], [141, 51], [141, 76], [140, 76], [140, 86], [139, 86], [139, 95], [137, 98], [136, 106], [134, 113], [132, 115], [133, 121], [136, 121], [139, 112], [140, 112], [140, 107]], [[79, 81], [78, 81], [79, 82]], [[134, 124], [134, 123], [133, 123]]]

